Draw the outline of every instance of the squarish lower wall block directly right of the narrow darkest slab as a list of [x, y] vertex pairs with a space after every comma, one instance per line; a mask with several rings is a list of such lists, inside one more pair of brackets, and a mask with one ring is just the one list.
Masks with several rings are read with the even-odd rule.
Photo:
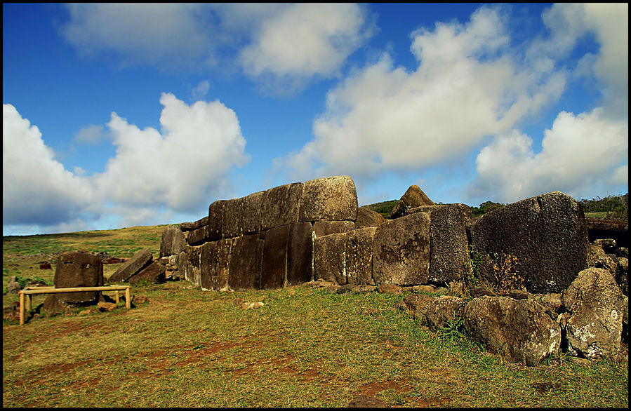
[[314, 279], [346, 284], [346, 234], [328, 234], [313, 240]]

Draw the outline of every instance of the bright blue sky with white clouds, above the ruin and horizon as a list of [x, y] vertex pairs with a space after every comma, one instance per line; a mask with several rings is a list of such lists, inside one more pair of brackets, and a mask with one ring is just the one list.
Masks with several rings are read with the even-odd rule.
[[3, 234], [350, 175], [479, 205], [628, 187], [627, 4], [3, 4]]

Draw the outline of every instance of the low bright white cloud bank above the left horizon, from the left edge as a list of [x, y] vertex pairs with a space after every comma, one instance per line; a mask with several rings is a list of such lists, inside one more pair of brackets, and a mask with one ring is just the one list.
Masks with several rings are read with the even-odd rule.
[[207, 206], [230, 184], [230, 169], [249, 159], [237, 114], [218, 100], [186, 105], [163, 93], [160, 102], [161, 130], [141, 130], [112, 112], [116, 155], [89, 177], [65, 170], [39, 129], [5, 104], [4, 226], [86, 229], [87, 215], [116, 217], [121, 226], [157, 224], [165, 213]]

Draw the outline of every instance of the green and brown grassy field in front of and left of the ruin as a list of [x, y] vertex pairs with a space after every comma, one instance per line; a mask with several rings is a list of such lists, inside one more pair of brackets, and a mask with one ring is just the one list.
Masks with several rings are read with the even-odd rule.
[[[52, 283], [65, 250], [159, 252], [163, 227], [4, 238], [8, 276]], [[11, 265], [13, 264], [13, 265]], [[111, 274], [117, 264], [107, 264]], [[305, 286], [204, 292], [187, 281], [132, 288], [131, 310], [32, 312], [3, 325], [4, 407], [627, 407], [627, 355], [536, 367], [510, 363], [456, 330], [432, 332], [404, 295]], [[258, 309], [234, 304], [263, 302]], [[17, 301], [4, 295], [4, 306]], [[44, 301], [36, 297], [34, 306]]]

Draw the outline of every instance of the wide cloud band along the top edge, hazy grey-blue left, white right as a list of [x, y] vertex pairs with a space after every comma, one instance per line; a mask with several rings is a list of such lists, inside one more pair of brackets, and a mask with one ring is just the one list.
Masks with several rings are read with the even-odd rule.
[[[159, 69], [234, 68], [271, 93], [336, 76], [373, 29], [357, 4], [72, 4], [60, 26], [83, 55]], [[288, 91], [289, 90], [289, 91]]]

